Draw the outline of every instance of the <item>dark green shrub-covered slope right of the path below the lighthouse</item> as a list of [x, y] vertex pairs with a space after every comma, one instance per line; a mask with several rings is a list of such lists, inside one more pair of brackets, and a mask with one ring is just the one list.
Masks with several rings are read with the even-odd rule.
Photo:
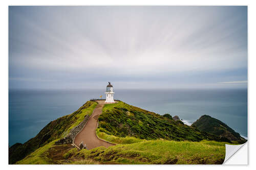
[[216, 140], [230, 142], [225, 137], [202, 132], [184, 125], [172, 116], [159, 115], [123, 102], [104, 105], [99, 116], [99, 131], [117, 137], [134, 136], [139, 139], [167, 139], [176, 141]]

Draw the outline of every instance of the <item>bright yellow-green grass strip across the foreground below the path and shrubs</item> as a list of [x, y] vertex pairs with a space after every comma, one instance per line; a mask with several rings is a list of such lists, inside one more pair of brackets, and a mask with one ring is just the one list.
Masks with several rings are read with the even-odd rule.
[[135, 143], [81, 151], [67, 144], [54, 145], [53, 141], [17, 164], [222, 164], [224, 159], [225, 142], [217, 141], [140, 139]]

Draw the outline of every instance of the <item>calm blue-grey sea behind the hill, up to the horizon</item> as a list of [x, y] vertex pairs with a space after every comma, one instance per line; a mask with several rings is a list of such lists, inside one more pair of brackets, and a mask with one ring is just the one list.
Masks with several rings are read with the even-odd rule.
[[[193, 123], [207, 114], [247, 137], [247, 89], [121, 90], [115, 99]], [[24, 143], [50, 121], [76, 111], [103, 90], [10, 90], [9, 145]]]

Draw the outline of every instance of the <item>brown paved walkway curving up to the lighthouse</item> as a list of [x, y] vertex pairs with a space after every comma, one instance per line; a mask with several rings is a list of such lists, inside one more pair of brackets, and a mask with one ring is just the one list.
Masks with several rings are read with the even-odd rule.
[[86, 126], [83, 127], [81, 132], [79, 132], [74, 140], [74, 143], [79, 146], [81, 142], [83, 144], [86, 144], [87, 149], [93, 149], [97, 147], [111, 147], [115, 144], [111, 144], [102, 140], [99, 140], [96, 136], [96, 128], [97, 128], [97, 122], [98, 117], [102, 113], [102, 108], [104, 106], [105, 101], [97, 101], [99, 104], [96, 106], [94, 112], [92, 113], [92, 116], [89, 118]]

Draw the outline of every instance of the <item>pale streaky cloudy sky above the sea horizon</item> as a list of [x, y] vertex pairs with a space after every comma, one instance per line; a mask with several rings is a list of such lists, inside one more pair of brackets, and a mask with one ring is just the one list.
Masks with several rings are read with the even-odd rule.
[[247, 88], [246, 6], [9, 7], [10, 89]]

